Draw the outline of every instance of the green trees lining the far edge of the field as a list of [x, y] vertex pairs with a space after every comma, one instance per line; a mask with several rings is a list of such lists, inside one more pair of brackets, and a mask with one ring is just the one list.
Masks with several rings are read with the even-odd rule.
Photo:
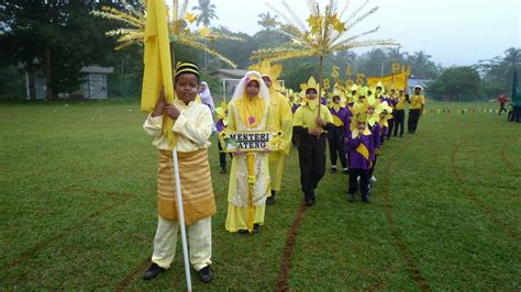
[[[114, 50], [114, 38], [104, 32], [119, 27], [119, 23], [93, 18], [92, 10], [103, 5], [125, 11], [128, 5], [142, 5], [141, 1], [113, 0], [4, 0], [0, 3], [0, 97], [23, 98], [25, 96], [25, 71], [42, 71], [47, 80], [47, 99], [56, 99], [58, 92], [74, 92], [81, 83], [80, 69], [99, 65], [114, 67], [108, 77], [109, 97], [136, 98], [141, 94], [143, 72], [143, 47], [135, 45]], [[215, 5], [210, 0], [199, 0], [192, 8], [198, 22], [210, 26], [218, 19]], [[217, 41], [210, 44], [226, 56], [239, 68], [246, 69], [254, 61], [253, 50], [273, 47], [287, 42], [288, 36], [279, 32], [277, 16], [260, 13], [262, 30], [254, 35], [232, 32], [224, 26], [212, 30], [239, 36], [244, 42]], [[178, 59], [196, 60], [207, 69], [207, 79], [214, 92], [220, 92], [220, 82], [208, 72], [226, 68], [224, 64], [176, 44]], [[503, 56], [480, 60], [474, 66], [445, 68], [432, 60], [424, 50], [403, 52], [401, 47], [374, 48], [363, 54], [346, 50], [332, 54], [324, 60], [325, 72], [333, 66], [350, 67], [352, 75], [380, 76], [391, 72], [391, 64], [398, 63], [411, 68], [412, 78], [433, 80], [429, 94], [444, 100], [483, 100], [499, 92], [508, 92], [514, 68], [521, 65], [521, 49], [508, 48]], [[317, 59], [300, 58], [282, 61], [281, 79], [288, 88], [298, 89], [309, 75], [318, 74]], [[343, 70], [340, 79], [346, 80]]]

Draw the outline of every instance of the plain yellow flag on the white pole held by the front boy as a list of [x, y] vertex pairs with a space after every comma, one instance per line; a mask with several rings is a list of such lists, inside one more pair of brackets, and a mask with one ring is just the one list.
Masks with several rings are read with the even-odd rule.
[[[174, 82], [171, 78], [170, 46], [168, 37], [168, 14], [164, 0], [148, 0], [145, 23], [145, 53], [141, 111], [152, 112], [159, 99], [160, 89], [165, 88], [166, 101], [174, 102]], [[165, 115], [163, 134], [168, 137], [171, 148], [175, 147], [175, 135], [171, 132], [174, 121]]]

